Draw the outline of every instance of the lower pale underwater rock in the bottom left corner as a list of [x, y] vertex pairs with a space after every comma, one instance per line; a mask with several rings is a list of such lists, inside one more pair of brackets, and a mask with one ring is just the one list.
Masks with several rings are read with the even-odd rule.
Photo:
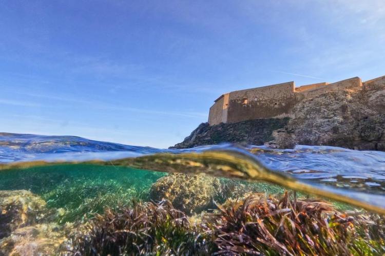
[[66, 241], [63, 228], [56, 223], [36, 224], [14, 230], [0, 240], [0, 255], [57, 255]]

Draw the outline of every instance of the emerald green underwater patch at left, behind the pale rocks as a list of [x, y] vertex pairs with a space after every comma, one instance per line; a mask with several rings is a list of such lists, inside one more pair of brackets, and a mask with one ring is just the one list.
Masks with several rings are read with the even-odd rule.
[[120, 166], [41, 166], [2, 172], [0, 190], [30, 190], [47, 208], [59, 209], [56, 221], [64, 223], [146, 201], [152, 183], [164, 175]]

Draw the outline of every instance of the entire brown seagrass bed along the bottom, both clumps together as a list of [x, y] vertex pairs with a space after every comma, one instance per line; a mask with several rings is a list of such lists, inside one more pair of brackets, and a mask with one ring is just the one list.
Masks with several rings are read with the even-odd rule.
[[[97, 215], [72, 238], [74, 255], [378, 255], [383, 217], [333, 205], [252, 194], [189, 223], [168, 201]], [[377, 226], [379, 225], [379, 226]], [[381, 227], [381, 228], [379, 228]]]

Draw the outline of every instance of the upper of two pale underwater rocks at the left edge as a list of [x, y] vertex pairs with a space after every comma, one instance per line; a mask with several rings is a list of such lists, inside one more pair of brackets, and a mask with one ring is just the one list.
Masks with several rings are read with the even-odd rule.
[[0, 190], [0, 239], [46, 218], [46, 202], [27, 190]]

